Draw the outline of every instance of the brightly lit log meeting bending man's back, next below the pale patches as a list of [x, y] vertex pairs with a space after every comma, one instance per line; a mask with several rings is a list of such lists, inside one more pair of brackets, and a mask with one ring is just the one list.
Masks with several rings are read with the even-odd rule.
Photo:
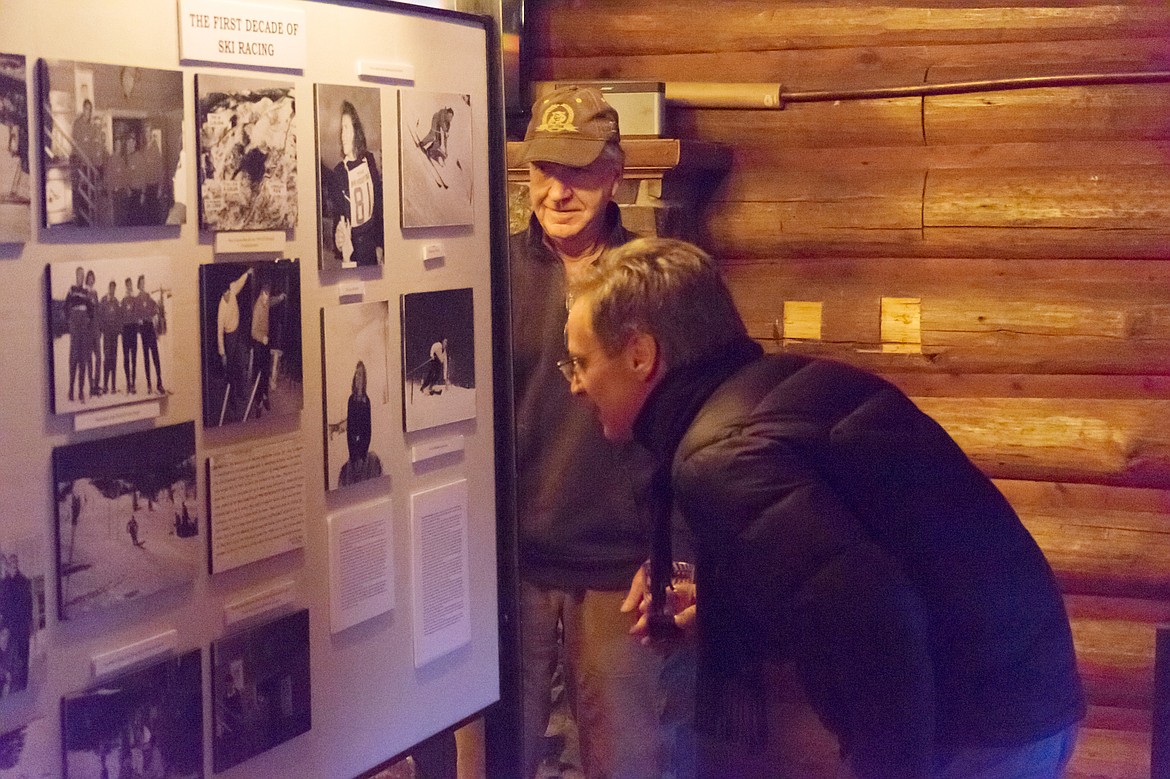
[[1170, 488], [1168, 400], [914, 400], [996, 478]]

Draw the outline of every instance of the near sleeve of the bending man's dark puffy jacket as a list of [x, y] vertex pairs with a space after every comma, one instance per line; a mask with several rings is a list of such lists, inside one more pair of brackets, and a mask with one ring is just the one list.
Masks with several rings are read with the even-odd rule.
[[730, 604], [744, 640], [787, 644], [763, 654], [796, 661], [858, 777], [928, 777], [935, 694], [921, 599], [810, 463], [798, 444], [758, 432], [676, 463], [700, 592], [715, 554], [738, 578]]

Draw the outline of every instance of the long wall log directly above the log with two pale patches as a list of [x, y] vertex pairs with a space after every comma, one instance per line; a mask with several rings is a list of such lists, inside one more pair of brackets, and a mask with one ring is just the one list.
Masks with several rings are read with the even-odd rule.
[[928, 248], [941, 256], [1170, 253], [1168, 165], [931, 170], [921, 194], [914, 172], [773, 171], [735, 180], [760, 191], [717, 193], [752, 198], [713, 208], [709, 234], [723, 256], [839, 256], [853, 246], [866, 246], [867, 256], [896, 247], [916, 256]]

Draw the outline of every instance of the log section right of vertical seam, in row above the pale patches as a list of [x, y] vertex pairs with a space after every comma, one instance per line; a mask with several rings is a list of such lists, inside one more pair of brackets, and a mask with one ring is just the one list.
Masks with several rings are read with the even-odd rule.
[[1085, 168], [935, 170], [923, 223], [1170, 230], [1170, 165]]

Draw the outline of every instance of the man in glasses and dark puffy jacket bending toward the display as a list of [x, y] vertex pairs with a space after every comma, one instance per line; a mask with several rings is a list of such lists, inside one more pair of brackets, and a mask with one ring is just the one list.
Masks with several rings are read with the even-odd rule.
[[656, 595], [638, 577], [624, 606], [697, 635], [703, 732], [762, 744], [760, 671], [790, 660], [842, 775], [1061, 775], [1085, 698], [1057, 580], [937, 422], [866, 371], [764, 357], [689, 243], [628, 243], [571, 292], [572, 391], [654, 454], [655, 540], [672, 508], [696, 538], [697, 608], [659, 544]]

